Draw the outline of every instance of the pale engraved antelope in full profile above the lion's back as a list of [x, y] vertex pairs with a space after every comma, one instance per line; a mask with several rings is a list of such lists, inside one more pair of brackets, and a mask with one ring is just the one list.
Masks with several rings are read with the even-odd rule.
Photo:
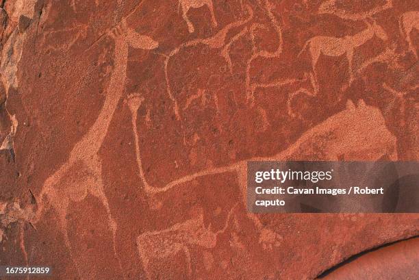
[[[363, 31], [355, 34], [353, 36], [344, 36], [341, 38], [330, 37], [330, 36], [315, 36], [305, 43], [303, 49], [300, 51], [299, 55], [309, 49], [309, 53], [312, 57], [312, 71], [316, 73], [316, 64], [320, 58], [320, 54], [338, 57], [340, 55], [346, 55], [348, 59], [348, 71], [349, 71], [349, 81], [348, 86], [351, 85], [353, 77], [353, 54], [355, 49], [362, 44], [365, 44], [372, 37], [377, 36], [383, 41], [388, 40], [388, 36], [383, 30], [383, 28], [373, 21], [372, 24], [365, 21], [367, 28]], [[316, 75], [316, 74], [315, 74]]]

